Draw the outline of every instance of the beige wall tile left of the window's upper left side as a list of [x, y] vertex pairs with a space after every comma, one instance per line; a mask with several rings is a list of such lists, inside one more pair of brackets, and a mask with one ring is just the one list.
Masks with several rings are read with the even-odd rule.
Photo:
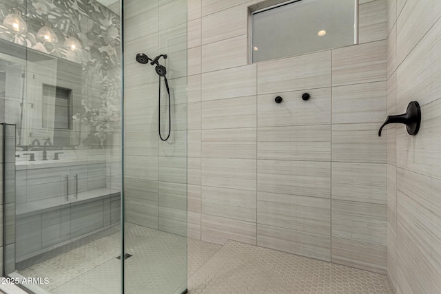
[[247, 3], [202, 17], [202, 44], [247, 34]]

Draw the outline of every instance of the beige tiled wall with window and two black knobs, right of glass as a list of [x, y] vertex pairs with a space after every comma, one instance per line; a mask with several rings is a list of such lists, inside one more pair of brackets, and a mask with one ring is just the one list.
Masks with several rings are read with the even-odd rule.
[[188, 1], [188, 235], [384, 273], [387, 0], [359, 45], [248, 64], [255, 3]]

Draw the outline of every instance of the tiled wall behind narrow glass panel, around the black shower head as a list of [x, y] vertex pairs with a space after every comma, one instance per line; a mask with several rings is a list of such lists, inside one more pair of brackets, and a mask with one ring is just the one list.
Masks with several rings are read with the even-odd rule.
[[[187, 0], [124, 1], [125, 22], [125, 221], [186, 234]], [[172, 132], [158, 138], [158, 75], [135, 61], [167, 54]], [[164, 85], [163, 80], [161, 85]], [[161, 93], [166, 105], [165, 87]], [[161, 107], [163, 137], [167, 107]]]

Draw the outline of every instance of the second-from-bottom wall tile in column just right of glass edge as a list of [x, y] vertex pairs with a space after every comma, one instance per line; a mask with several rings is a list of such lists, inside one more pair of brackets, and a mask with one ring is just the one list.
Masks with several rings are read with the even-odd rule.
[[204, 215], [256, 222], [256, 191], [207, 186], [201, 191]]

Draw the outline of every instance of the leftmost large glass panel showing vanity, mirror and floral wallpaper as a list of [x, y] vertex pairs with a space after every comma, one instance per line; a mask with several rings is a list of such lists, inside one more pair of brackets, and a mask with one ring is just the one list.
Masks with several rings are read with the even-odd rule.
[[119, 3], [0, 10], [1, 117], [17, 126], [4, 274], [34, 293], [121, 293]]

